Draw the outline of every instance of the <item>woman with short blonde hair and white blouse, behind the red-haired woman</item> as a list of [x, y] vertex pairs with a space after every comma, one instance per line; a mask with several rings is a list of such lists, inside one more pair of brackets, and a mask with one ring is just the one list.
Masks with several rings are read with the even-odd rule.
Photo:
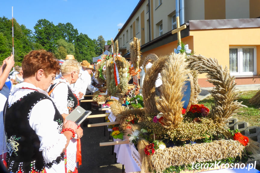
[[[79, 99], [70, 85], [75, 83], [81, 76], [81, 65], [75, 60], [66, 60], [61, 65], [61, 78], [54, 80], [54, 85], [49, 88], [50, 96], [55, 100], [59, 112], [66, 119], [67, 115], [79, 105]], [[67, 156], [67, 172], [77, 172], [76, 162], [81, 164], [81, 154], [77, 151], [77, 143], [80, 144], [79, 138], [83, 136], [82, 128], [78, 127], [76, 137], [70, 140], [70, 144], [65, 151]]]

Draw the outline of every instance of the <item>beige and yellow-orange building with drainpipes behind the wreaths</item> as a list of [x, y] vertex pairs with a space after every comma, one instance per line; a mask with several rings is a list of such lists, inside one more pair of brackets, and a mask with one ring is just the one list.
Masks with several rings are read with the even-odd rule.
[[[171, 53], [177, 48], [177, 34], [171, 34], [176, 12], [180, 25], [187, 25], [181, 31], [182, 42], [195, 54], [227, 66], [238, 85], [260, 83], [260, 19], [255, 19], [260, 18], [260, 0], [140, 0], [114, 38], [119, 52], [129, 57], [129, 43], [136, 37], [141, 39], [142, 59], [150, 53], [158, 57]], [[245, 50], [248, 62], [243, 60]], [[202, 87], [211, 86], [206, 79], [199, 75]]]

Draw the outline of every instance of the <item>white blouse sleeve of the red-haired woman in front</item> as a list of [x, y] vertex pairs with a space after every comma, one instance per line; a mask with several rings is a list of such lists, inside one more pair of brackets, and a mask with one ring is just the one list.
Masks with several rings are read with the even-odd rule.
[[44, 99], [35, 104], [29, 114], [29, 123], [40, 140], [39, 151], [46, 163], [52, 162], [60, 156], [67, 138], [58, 133], [58, 122], [54, 119], [55, 109], [52, 101]]

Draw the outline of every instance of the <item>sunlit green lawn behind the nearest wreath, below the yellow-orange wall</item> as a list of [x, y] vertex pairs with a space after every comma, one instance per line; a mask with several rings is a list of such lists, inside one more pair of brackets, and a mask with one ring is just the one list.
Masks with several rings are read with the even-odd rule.
[[[238, 101], [243, 101], [243, 105], [247, 107], [242, 107], [239, 109], [239, 113], [233, 117], [237, 118], [240, 121], [248, 122], [250, 126], [256, 125], [260, 126], [260, 109], [258, 106], [251, 105], [249, 100], [257, 93], [257, 90], [253, 91], [240, 91]], [[206, 107], [211, 109], [211, 104], [214, 104], [214, 98], [209, 96], [203, 100], [199, 101], [199, 104], [204, 104]]]

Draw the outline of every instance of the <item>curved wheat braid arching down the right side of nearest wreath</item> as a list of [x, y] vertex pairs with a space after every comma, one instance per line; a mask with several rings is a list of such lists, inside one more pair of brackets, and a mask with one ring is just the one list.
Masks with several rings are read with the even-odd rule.
[[[210, 91], [215, 99], [215, 105], [211, 106], [210, 116], [219, 122], [225, 122], [237, 110], [242, 107], [238, 102], [238, 91], [235, 87], [235, 77], [231, 77], [227, 66], [223, 70], [216, 59], [206, 58], [202, 55], [187, 56], [190, 69], [198, 73], [207, 73], [207, 81], [215, 85]], [[236, 100], [236, 101], [234, 101]]]

